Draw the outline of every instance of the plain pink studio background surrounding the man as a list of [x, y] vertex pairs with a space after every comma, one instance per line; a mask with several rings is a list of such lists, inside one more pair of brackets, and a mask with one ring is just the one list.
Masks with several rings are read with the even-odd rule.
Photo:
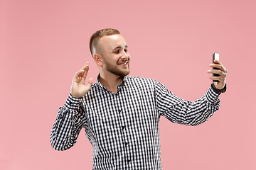
[[[163, 169], [256, 169], [255, 1], [1, 0], [0, 169], [91, 169], [84, 130], [65, 152], [50, 130], [71, 79], [90, 62], [89, 38], [117, 28], [129, 45], [131, 74], [161, 81], [186, 100], [211, 84], [212, 53], [228, 69], [228, 91], [208, 122], [160, 119]], [[94, 79], [95, 82], [95, 79]]]

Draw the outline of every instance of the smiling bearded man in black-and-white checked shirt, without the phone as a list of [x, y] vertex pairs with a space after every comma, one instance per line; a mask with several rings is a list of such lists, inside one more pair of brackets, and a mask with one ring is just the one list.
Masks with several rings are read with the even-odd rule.
[[220, 106], [227, 71], [215, 60], [208, 70], [218, 80], [196, 101], [178, 98], [153, 79], [130, 77], [127, 43], [118, 30], [98, 30], [90, 39], [100, 69], [97, 82], [85, 85], [87, 62], [73, 77], [70, 95], [58, 110], [50, 133], [54, 149], [69, 149], [82, 128], [91, 142], [92, 169], [161, 169], [159, 118], [199, 125]]

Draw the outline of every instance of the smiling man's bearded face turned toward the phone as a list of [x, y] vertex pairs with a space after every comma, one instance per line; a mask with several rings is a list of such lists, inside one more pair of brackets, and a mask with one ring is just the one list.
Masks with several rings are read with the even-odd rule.
[[122, 35], [107, 35], [100, 38], [103, 69], [120, 77], [129, 74], [129, 53]]

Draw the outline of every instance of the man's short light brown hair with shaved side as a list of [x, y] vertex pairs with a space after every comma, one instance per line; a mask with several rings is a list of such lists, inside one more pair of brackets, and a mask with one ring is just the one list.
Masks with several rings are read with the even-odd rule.
[[114, 34], [120, 34], [119, 30], [113, 28], [105, 28], [102, 30], [97, 30], [94, 34], [92, 34], [92, 36], [90, 37], [90, 52], [92, 54], [92, 57], [96, 53], [97, 43], [99, 42], [100, 38], [102, 38], [105, 35]]

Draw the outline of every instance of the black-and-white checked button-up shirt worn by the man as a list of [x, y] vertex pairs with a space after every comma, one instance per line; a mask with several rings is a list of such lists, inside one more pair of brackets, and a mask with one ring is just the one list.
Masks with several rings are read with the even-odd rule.
[[92, 169], [161, 169], [159, 118], [199, 125], [220, 107], [210, 86], [196, 101], [175, 96], [154, 79], [124, 77], [117, 93], [97, 82], [82, 98], [68, 96], [50, 132], [54, 149], [69, 149], [82, 128], [91, 142]]

